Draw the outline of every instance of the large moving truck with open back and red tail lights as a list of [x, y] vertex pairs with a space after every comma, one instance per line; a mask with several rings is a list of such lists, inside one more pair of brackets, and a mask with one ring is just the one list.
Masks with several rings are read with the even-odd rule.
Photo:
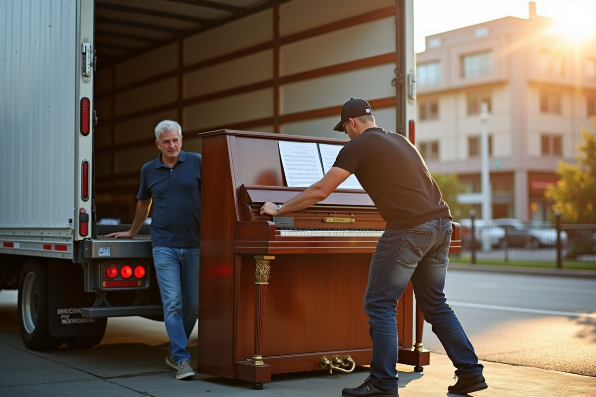
[[163, 316], [148, 226], [104, 237], [132, 222], [159, 121], [195, 152], [222, 128], [345, 139], [332, 129], [353, 97], [413, 139], [412, 14], [412, 0], [0, 2], [0, 289], [18, 289], [25, 345], [94, 346], [108, 317]]

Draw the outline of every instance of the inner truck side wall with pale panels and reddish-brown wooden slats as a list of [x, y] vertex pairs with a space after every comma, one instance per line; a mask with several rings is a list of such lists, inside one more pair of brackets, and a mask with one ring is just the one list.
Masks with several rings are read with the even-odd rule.
[[345, 139], [333, 126], [350, 97], [395, 130], [394, 6], [294, 0], [98, 71], [97, 199], [136, 193], [164, 118], [197, 152], [197, 133], [222, 128]]

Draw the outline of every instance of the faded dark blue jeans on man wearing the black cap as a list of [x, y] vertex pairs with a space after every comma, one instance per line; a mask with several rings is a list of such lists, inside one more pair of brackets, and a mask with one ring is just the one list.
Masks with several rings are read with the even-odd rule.
[[386, 229], [378, 240], [364, 296], [373, 339], [371, 380], [377, 387], [398, 388], [396, 306], [410, 279], [424, 320], [457, 368], [455, 374], [482, 374], [483, 366], [443, 292], [451, 232], [451, 220], [439, 218], [409, 229]]

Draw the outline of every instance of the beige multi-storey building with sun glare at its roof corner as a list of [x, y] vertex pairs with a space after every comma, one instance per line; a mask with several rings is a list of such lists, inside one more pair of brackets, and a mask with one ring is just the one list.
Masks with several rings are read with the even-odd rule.
[[[489, 109], [493, 218], [548, 220], [558, 161], [575, 162], [596, 114], [596, 37], [554, 20], [505, 17], [426, 37], [417, 54], [417, 147], [432, 173], [480, 192], [480, 104]], [[478, 205], [477, 213], [480, 213]]]

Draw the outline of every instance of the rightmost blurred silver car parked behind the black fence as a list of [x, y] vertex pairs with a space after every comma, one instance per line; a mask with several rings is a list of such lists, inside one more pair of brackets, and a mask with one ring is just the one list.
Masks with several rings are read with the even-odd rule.
[[[524, 223], [516, 218], [498, 218], [495, 224], [505, 230], [505, 240], [510, 247], [539, 248], [557, 244], [557, 229], [550, 223], [530, 221]], [[567, 243], [567, 232], [561, 230], [561, 243]]]

